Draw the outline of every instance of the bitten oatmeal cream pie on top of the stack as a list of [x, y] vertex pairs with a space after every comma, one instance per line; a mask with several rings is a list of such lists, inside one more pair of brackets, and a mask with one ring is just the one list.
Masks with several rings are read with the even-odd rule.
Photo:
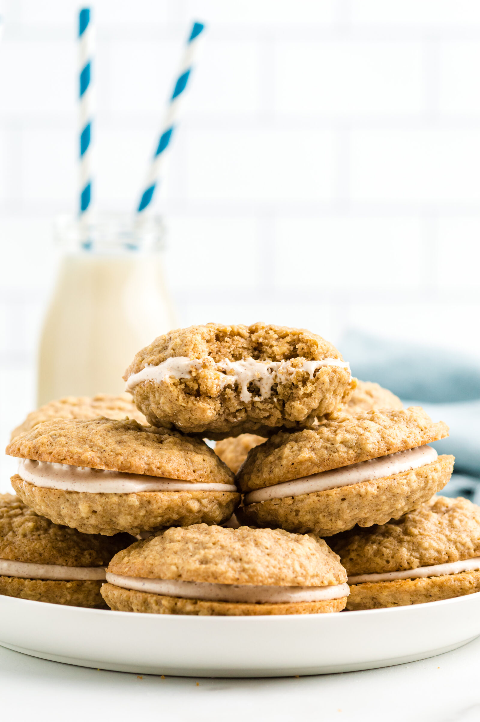
[[303, 427], [346, 403], [355, 386], [320, 336], [266, 323], [170, 331], [139, 351], [123, 378], [150, 424], [214, 440]]

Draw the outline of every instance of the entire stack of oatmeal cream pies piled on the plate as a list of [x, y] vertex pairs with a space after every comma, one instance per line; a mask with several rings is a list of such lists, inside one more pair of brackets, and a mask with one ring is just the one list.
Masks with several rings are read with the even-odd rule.
[[435, 496], [454, 459], [429, 443], [448, 427], [352, 378], [320, 336], [178, 329], [124, 379], [134, 405], [63, 399], [15, 430], [0, 593], [251, 615], [480, 591], [480, 509]]

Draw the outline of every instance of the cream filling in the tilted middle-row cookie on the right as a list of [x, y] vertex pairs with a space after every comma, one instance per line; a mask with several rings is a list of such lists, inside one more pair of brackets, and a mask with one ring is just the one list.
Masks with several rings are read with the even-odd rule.
[[419, 466], [431, 464], [437, 459], [437, 456], [437, 452], [431, 446], [417, 446], [408, 451], [397, 451], [387, 456], [359, 461], [358, 464], [342, 466], [341, 469], [321, 471], [320, 474], [312, 474], [310, 477], [302, 477], [294, 479], [292, 482], [282, 482], [258, 489], [246, 494], [244, 503], [254, 504], [268, 499], [284, 499], [301, 494], [313, 494], [313, 492], [324, 492], [328, 489], [347, 487], [350, 484], [391, 477], [393, 474], [400, 474], [401, 471], [418, 469]]

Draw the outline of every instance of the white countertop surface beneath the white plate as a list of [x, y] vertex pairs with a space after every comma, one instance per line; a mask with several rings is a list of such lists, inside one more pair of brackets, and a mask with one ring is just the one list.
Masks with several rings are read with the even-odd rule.
[[0, 647], [0, 710], [19, 722], [474, 722], [479, 671], [480, 638], [411, 664], [300, 679], [139, 679]]

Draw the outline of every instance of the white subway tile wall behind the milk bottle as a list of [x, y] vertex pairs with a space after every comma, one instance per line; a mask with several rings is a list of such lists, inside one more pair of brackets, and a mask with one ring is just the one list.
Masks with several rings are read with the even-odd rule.
[[[480, 355], [477, 0], [98, 0], [95, 198], [133, 209], [192, 19], [157, 209], [180, 323], [357, 328]], [[0, 434], [35, 403], [77, 209], [77, 3], [9, 0], [0, 43]]]

